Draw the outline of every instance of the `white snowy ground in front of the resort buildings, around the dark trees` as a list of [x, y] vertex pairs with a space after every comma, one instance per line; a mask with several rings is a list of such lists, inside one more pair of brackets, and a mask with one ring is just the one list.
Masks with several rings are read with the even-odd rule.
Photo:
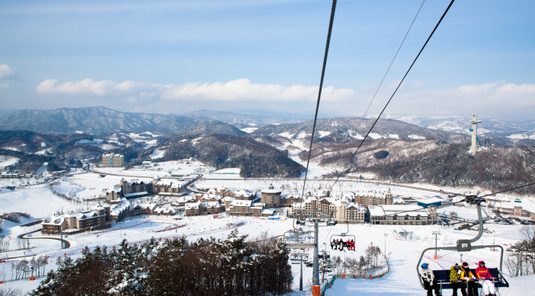
[[[172, 220], [171, 217], [165, 216], [148, 216], [139, 217], [132, 220], [126, 220], [118, 224], [114, 224], [109, 231], [101, 232], [95, 231], [90, 233], [82, 233], [69, 235], [67, 239], [72, 243], [71, 248], [62, 250], [57, 241], [50, 240], [31, 240], [32, 249], [27, 251], [13, 251], [9, 252], [9, 256], [35, 255], [45, 253], [51, 257], [51, 264], [54, 266], [54, 261], [58, 256], [68, 254], [70, 256], [78, 256], [85, 246], [94, 247], [96, 245], [107, 246], [112, 248], [118, 245], [122, 239], [127, 239], [129, 243], [138, 243], [145, 241], [151, 237], [176, 237], [185, 235], [188, 239], [195, 240], [200, 237], [216, 237], [226, 238], [232, 231], [227, 226], [228, 223], [240, 224], [238, 227], [240, 234], [249, 235], [251, 240], [258, 238], [262, 232], [267, 232], [269, 237], [283, 235], [285, 231], [292, 229], [292, 220], [264, 220], [260, 218], [237, 218], [225, 217], [222, 219], [214, 219], [211, 216], [205, 217], [191, 217], [183, 220]], [[8, 222], [9, 224], [10, 222]], [[186, 224], [185, 227], [161, 231], [170, 225]], [[8, 228], [8, 233], [16, 236], [29, 229], [24, 229], [20, 226]], [[385, 277], [374, 280], [341, 280], [337, 279], [334, 282], [332, 289], [327, 290], [326, 295], [422, 295], [423, 290], [420, 287], [416, 265], [420, 258], [421, 252], [428, 247], [434, 246], [435, 237], [431, 234], [433, 231], [439, 231], [438, 246], [452, 245], [457, 239], [471, 238], [475, 236], [475, 232], [471, 231], [456, 231], [453, 228], [444, 228], [440, 226], [369, 226], [369, 225], [349, 225], [349, 234], [356, 237], [356, 251], [333, 251], [328, 246], [333, 235], [345, 233], [347, 225], [336, 225], [333, 227], [320, 227], [320, 250], [327, 250], [331, 257], [340, 256], [342, 259], [347, 257], [359, 258], [364, 255], [366, 248], [370, 245], [377, 245], [381, 250], [385, 250], [389, 258], [391, 271]], [[305, 226], [305, 229], [312, 230], [311, 225]], [[495, 231], [495, 236], [484, 236], [480, 242], [481, 244], [496, 244], [507, 246], [519, 239], [518, 230], [520, 226], [503, 226], [503, 225], [487, 225], [487, 228]], [[412, 232], [412, 238], [403, 239], [396, 233], [400, 231]], [[31, 237], [40, 237], [39, 234]], [[312, 254], [312, 250], [308, 250]], [[455, 262], [460, 262], [460, 253], [453, 251], [439, 251], [438, 259], [433, 258], [433, 253], [427, 253], [424, 261], [428, 262], [433, 269], [449, 268]], [[487, 266], [498, 266], [499, 252], [492, 250], [483, 250], [478, 252], [463, 253], [463, 260], [467, 261], [472, 267], [475, 266], [479, 260], [485, 260]], [[292, 264], [294, 274], [293, 287], [297, 290], [299, 287], [299, 265]], [[0, 271], [5, 273], [4, 280], [10, 279], [10, 260], [6, 263], [0, 263]], [[504, 267], [504, 272], [507, 273]], [[0, 276], [1, 278], [1, 276]], [[312, 268], [304, 267], [304, 287], [309, 290], [312, 284]], [[329, 278], [329, 276], [327, 276]], [[529, 295], [529, 291], [535, 288], [535, 279], [533, 276], [509, 279], [511, 288], [502, 289], [501, 295]], [[38, 281], [29, 282], [28, 280], [21, 280], [15, 282], [5, 282], [4, 287], [12, 287], [29, 291], [38, 285]], [[295, 292], [292, 295], [310, 295], [307, 292]], [[309, 293], [309, 292], [308, 292]], [[445, 294], [446, 295], [446, 294]]]

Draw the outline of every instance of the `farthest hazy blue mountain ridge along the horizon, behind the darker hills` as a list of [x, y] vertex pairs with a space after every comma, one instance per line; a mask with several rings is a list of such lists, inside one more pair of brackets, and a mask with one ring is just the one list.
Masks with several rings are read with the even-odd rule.
[[[105, 135], [113, 133], [175, 134], [204, 122], [222, 122], [252, 137], [265, 141], [277, 140], [277, 134], [307, 138], [312, 121], [301, 116], [262, 111], [222, 112], [200, 110], [182, 115], [120, 112], [104, 107], [60, 108], [54, 110], [0, 109], [0, 130], [28, 130], [42, 134], [85, 133]], [[370, 139], [399, 140], [435, 139], [459, 143], [470, 134], [469, 119], [460, 116], [417, 117], [390, 116], [381, 119]], [[495, 119], [482, 119], [478, 126], [480, 145], [516, 146], [535, 145], [535, 121], [511, 123]], [[315, 141], [348, 143], [362, 138], [373, 119], [357, 117], [324, 118], [318, 120]], [[208, 127], [208, 126], [207, 126]], [[223, 132], [224, 134], [228, 134]], [[205, 133], [205, 132], [202, 132]], [[234, 134], [237, 135], [237, 134]]]

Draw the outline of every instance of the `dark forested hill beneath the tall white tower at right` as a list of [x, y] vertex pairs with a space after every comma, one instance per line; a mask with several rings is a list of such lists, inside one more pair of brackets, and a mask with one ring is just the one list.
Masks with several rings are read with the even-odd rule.
[[[439, 145], [412, 157], [385, 159], [361, 168], [379, 178], [402, 183], [481, 186], [501, 191], [535, 182], [535, 146], [480, 150], [475, 156], [463, 144]], [[514, 193], [534, 193], [535, 186]]]

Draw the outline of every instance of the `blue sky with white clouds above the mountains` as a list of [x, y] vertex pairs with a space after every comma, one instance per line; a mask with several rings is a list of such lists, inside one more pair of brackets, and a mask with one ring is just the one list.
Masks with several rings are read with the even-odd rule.
[[[320, 116], [378, 114], [449, 3], [338, 1]], [[312, 119], [331, 4], [0, 0], [1, 108]], [[532, 0], [456, 1], [385, 112], [533, 120], [534, 36]]]

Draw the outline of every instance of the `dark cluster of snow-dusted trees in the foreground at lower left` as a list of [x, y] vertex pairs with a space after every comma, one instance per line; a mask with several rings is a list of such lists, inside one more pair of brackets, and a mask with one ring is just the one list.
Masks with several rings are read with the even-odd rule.
[[264, 235], [232, 232], [225, 240], [185, 237], [111, 250], [85, 248], [58, 258], [57, 270], [30, 295], [280, 295], [290, 291], [288, 249]]

